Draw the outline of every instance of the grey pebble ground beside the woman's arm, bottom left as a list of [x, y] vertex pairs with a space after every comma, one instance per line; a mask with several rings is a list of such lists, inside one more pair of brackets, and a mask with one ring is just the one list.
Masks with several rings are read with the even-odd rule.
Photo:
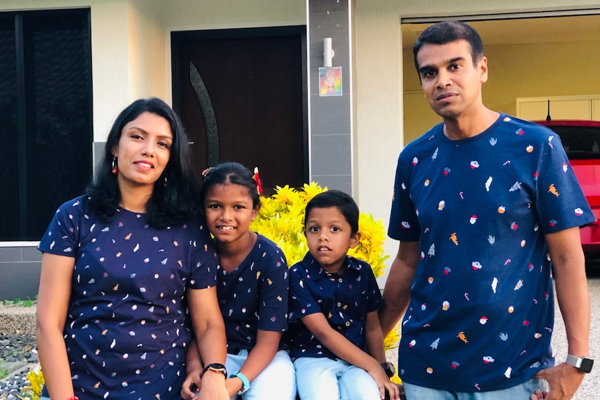
[[0, 380], [0, 399], [18, 400], [21, 388], [28, 385], [26, 374], [38, 364], [35, 337], [31, 335], [0, 335], [0, 371], [11, 371]]

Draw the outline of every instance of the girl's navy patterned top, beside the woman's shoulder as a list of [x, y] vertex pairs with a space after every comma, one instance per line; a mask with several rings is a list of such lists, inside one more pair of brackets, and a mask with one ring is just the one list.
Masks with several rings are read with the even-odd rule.
[[257, 330], [287, 329], [287, 262], [275, 243], [258, 235], [254, 247], [237, 269], [217, 267], [221, 314], [228, 351], [251, 350]]

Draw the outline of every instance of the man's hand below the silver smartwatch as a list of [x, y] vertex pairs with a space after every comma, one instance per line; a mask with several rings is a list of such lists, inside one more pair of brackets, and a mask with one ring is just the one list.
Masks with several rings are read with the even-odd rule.
[[569, 400], [574, 396], [579, 385], [581, 385], [585, 374], [578, 371], [572, 365], [562, 362], [554, 367], [542, 369], [535, 374], [535, 377], [546, 380], [549, 391], [543, 397], [532, 397], [532, 399]]

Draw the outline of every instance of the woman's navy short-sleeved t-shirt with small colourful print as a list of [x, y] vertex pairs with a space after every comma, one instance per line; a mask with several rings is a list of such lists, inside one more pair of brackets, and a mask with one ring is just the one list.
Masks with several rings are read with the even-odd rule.
[[203, 221], [156, 230], [118, 209], [101, 223], [81, 196], [59, 207], [38, 248], [74, 258], [64, 337], [75, 395], [180, 399], [191, 339], [184, 294], [216, 284]]

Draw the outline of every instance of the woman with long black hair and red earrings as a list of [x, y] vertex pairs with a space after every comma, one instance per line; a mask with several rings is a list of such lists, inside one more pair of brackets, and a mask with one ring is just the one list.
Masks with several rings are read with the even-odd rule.
[[43, 396], [179, 399], [187, 304], [208, 366], [199, 397], [228, 399], [216, 255], [193, 217], [194, 182], [167, 104], [140, 99], [118, 115], [95, 182], [59, 207], [40, 241]]

